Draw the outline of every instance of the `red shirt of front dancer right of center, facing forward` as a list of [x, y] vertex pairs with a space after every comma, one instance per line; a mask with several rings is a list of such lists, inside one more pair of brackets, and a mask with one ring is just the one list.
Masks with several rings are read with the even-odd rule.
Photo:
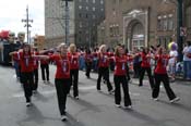
[[115, 67], [115, 75], [118, 76], [126, 76], [127, 75], [127, 56], [115, 56], [116, 60], [116, 67]]

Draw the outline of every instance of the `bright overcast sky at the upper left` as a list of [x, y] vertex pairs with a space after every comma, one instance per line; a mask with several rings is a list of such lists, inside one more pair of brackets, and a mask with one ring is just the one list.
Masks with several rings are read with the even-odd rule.
[[45, 35], [44, 0], [0, 0], [0, 30], [12, 30], [15, 34], [26, 32], [22, 18], [26, 18], [26, 5], [29, 9], [32, 36]]

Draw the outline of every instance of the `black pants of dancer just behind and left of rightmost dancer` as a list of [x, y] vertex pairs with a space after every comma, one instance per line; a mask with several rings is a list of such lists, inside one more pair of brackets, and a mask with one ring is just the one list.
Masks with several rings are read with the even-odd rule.
[[143, 78], [144, 78], [144, 73], [147, 73], [148, 79], [150, 79], [150, 85], [151, 88], [154, 88], [154, 78], [152, 76], [152, 70], [151, 67], [141, 67], [141, 72], [140, 72], [140, 86], [143, 86]]

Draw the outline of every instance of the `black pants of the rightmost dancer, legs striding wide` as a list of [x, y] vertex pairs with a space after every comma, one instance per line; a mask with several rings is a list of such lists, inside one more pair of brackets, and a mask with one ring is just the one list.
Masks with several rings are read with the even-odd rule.
[[164, 87], [165, 87], [165, 90], [167, 92], [167, 96], [169, 98], [169, 100], [172, 100], [176, 98], [172, 89], [170, 88], [170, 85], [169, 85], [169, 77], [167, 74], [155, 74], [155, 87], [154, 87], [154, 90], [153, 90], [153, 98], [157, 98], [158, 94], [159, 94], [159, 85], [160, 85], [160, 81], [163, 81], [164, 84]]

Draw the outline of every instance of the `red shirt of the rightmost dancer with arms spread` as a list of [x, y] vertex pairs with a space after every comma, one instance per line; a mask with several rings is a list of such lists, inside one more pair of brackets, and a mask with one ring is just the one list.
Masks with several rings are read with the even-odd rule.
[[155, 60], [157, 61], [157, 65], [155, 68], [156, 74], [167, 74], [167, 65], [168, 65], [168, 55], [155, 55]]

